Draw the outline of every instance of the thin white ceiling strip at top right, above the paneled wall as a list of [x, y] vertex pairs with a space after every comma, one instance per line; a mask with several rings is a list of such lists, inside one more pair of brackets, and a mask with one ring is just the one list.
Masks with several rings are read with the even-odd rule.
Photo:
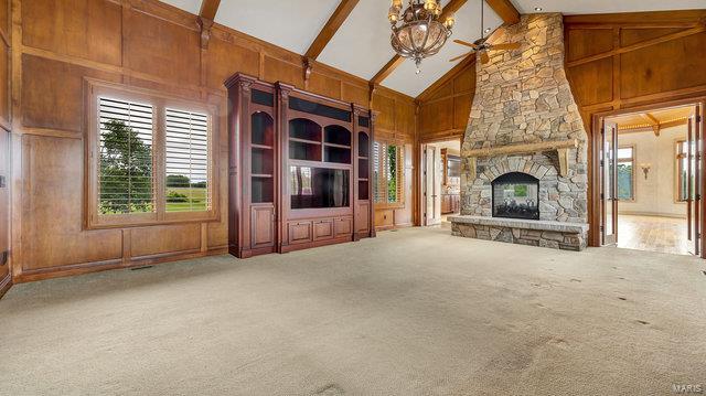
[[691, 10], [706, 8], [706, 0], [512, 0], [520, 13], [561, 12], [564, 14]]

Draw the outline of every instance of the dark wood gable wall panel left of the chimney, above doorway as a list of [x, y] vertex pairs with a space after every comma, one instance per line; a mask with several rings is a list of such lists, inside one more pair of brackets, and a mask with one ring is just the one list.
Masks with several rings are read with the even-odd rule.
[[475, 94], [475, 56], [469, 56], [417, 97], [419, 140], [463, 138]]

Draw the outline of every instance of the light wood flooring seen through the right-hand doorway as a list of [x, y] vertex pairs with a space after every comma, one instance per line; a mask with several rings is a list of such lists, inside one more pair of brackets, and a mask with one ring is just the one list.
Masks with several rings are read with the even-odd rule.
[[618, 247], [688, 255], [691, 246], [685, 218], [618, 215]]

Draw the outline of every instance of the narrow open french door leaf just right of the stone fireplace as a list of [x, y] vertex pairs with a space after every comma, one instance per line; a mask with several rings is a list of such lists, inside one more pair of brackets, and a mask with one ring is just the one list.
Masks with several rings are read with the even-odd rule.
[[600, 152], [601, 244], [618, 243], [618, 125], [603, 121]]

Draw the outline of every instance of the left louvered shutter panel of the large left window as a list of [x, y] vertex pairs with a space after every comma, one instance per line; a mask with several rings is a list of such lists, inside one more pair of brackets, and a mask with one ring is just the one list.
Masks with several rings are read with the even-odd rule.
[[[108, 97], [98, 98], [98, 130], [100, 158], [98, 161], [98, 207], [101, 214], [145, 213], [154, 211], [152, 178], [152, 106]], [[115, 141], [117, 136], [106, 122], [121, 121], [141, 141]], [[124, 150], [115, 150], [116, 146]], [[131, 151], [141, 146], [147, 150]], [[127, 156], [127, 157], [125, 157]]]

